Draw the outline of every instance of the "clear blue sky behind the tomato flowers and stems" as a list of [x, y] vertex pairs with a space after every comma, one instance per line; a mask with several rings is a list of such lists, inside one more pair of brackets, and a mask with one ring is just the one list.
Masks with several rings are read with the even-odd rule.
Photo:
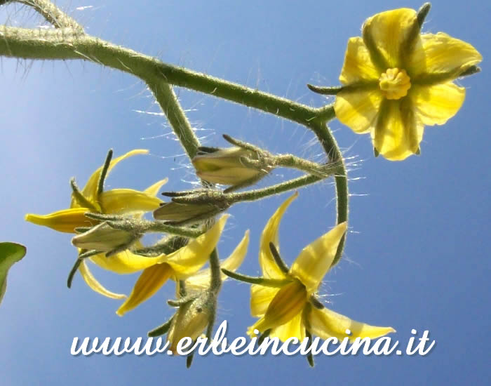
[[[418, 8], [417, 1], [58, 1], [86, 32], [161, 60], [321, 106], [332, 100], [305, 84], [337, 84], [347, 39], [370, 15]], [[82, 6], [90, 8], [77, 9]], [[72, 357], [74, 336], [138, 337], [168, 319], [167, 284], [124, 318], [118, 300], [90, 291], [81, 277], [66, 287], [76, 252], [68, 234], [36, 227], [25, 213], [50, 213], [69, 204], [69, 178], [83, 185], [115, 154], [145, 148], [114, 169], [107, 187], [144, 189], [169, 178], [166, 189], [189, 189], [196, 177], [159, 112], [137, 79], [88, 62], [1, 59], [0, 171], [2, 241], [27, 245], [11, 269], [0, 307], [2, 385], [269, 384], [484, 385], [491, 375], [490, 339], [490, 5], [485, 1], [433, 1], [425, 32], [446, 32], [483, 54], [483, 72], [459, 81], [466, 101], [445, 126], [426, 128], [422, 156], [403, 162], [372, 157], [368, 135], [339, 121], [331, 127], [349, 157], [351, 233], [340, 264], [322, 293], [336, 312], [393, 326], [405, 345], [412, 328], [429, 330], [436, 347], [426, 357]], [[1, 7], [11, 25], [36, 25], [32, 11]], [[206, 145], [225, 145], [222, 133], [271, 152], [322, 161], [321, 148], [303, 127], [177, 88], [189, 119]], [[264, 183], [288, 171], [277, 170]], [[263, 184], [264, 185], [264, 184]], [[227, 256], [250, 228], [240, 271], [258, 274], [262, 227], [286, 198], [238, 204], [220, 241]], [[281, 226], [288, 262], [335, 223], [332, 181], [302, 189]], [[117, 276], [93, 268], [97, 279], [129, 293], [137, 274]], [[227, 281], [217, 323], [229, 338], [253, 324], [249, 288]]]

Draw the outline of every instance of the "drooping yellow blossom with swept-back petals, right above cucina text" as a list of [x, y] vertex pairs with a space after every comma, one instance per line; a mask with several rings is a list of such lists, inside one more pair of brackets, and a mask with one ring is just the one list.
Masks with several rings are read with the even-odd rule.
[[[288, 272], [283, 272], [276, 264], [269, 244], [278, 246], [281, 218], [296, 197], [297, 194], [294, 194], [281, 204], [262, 232], [259, 261], [264, 278], [284, 283], [275, 287], [260, 284], [251, 287], [251, 313], [260, 319], [249, 328], [248, 333], [254, 335], [255, 329], [260, 333], [269, 330], [270, 337], [278, 337], [284, 342], [288, 338], [302, 341], [307, 334], [317, 335], [322, 339], [335, 337], [339, 340], [349, 336], [354, 340], [358, 337], [378, 338], [394, 332], [391, 327], [370, 326], [327, 308], [313, 306], [312, 296], [330, 269], [339, 241], [346, 232], [346, 222], [306, 246]], [[347, 329], [351, 331], [351, 335], [347, 335]]]

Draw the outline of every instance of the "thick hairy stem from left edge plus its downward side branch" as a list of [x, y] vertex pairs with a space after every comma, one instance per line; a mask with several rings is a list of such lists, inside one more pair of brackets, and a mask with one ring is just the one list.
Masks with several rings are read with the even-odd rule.
[[0, 55], [25, 59], [89, 60], [137, 76], [154, 93], [189, 157], [196, 155], [199, 140], [172, 87], [159, 73], [159, 60], [65, 27], [54, 30], [0, 27]]

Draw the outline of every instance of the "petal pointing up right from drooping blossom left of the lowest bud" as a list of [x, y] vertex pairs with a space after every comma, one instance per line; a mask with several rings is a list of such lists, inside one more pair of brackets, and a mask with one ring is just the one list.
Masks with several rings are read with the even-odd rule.
[[176, 279], [186, 279], [196, 273], [208, 261], [210, 253], [220, 240], [220, 234], [222, 234], [227, 218], [229, 215], [222, 215], [220, 220], [206, 233], [189, 241], [187, 246], [161, 257], [161, 262], [166, 262], [173, 268]]

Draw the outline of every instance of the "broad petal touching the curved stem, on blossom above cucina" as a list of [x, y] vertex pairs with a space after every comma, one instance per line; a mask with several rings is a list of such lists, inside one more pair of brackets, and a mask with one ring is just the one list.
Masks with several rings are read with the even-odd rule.
[[313, 243], [306, 246], [300, 252], [293, 263], [290, 273], [297, 277], [307, 288], [307, 293], [311, 294], [317, 291], [324, 275], [328, 272], [334, 260], [339, 241], [344, 236], [347, 229], [347, 223], [332, 228], [329, 232], [323, 234]]

